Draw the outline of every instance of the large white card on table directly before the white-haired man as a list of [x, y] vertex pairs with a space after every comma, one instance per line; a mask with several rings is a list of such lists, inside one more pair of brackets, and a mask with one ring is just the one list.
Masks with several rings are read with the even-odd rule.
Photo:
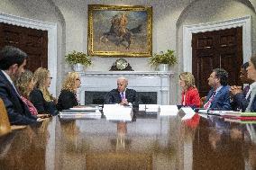
[[133, 118], [133, 108], [119, 104], [105, 104], [103, 112], [108, 121], [132, 121]]

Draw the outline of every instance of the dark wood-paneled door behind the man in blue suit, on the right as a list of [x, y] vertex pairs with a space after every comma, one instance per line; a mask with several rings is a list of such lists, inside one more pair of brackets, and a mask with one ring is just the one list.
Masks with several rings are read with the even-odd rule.
[[217, 67], [229, 73], [229, 85], [242, 85], [241, 66], [242, 27], [192, 34], [192, 73], [201, 97], [211, 88], [207, 79]]

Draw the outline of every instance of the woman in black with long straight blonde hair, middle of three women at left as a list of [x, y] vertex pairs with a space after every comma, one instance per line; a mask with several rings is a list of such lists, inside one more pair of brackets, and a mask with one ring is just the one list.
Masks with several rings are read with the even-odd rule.
[[35, 88], [30, 93], [30, 100], [39, 113], [57, 115], [59, 112], [56, 109], [55, 98], [48, 91], [51, 79], [48, 69], [37, 68], [33, 74]]

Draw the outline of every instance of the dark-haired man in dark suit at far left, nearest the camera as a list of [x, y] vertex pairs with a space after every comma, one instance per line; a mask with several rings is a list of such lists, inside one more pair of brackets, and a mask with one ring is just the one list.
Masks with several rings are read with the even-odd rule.
[[26, 65], [27, 54], [21, 49], [5, 46], [0, 50], [0, 98], [5, 103], [11, 124], [22, 125], [37, 122], [14, 86]]

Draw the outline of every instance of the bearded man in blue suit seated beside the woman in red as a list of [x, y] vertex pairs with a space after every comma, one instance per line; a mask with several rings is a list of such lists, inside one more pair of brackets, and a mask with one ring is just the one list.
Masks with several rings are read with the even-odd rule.
[[230, 111], [228, 73], [222, 68], [215, 68], [208, 78], [208, 85], [212, 87], [207, 94], [205, 109]]

